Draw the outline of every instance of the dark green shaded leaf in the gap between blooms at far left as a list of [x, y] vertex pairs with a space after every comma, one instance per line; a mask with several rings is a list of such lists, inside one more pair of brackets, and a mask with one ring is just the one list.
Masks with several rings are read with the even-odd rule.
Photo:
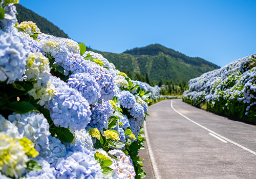
[[25, 114], [30, 111], [36, 111], [37, 113], [39, 113], [35, 106], [26, 101], [14, 101], [7, 104], [5, 107], [19, 114]]

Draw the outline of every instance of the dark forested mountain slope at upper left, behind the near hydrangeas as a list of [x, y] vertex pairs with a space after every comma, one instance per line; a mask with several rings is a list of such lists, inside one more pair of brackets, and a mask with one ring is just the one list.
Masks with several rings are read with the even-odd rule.
[[22, 5], [15, 4], [17, 10], [17, 19], [18, 23], [22, 21], [33, 21], [40, 29], [41, 32], [46, 34], [51, 34], [56, 37], [64, 37], [69, 38], [69, 36], [60, 30], [57, 26], [52, 24], [46, 18], [39, 16], [38, 14], [34, 13], [33, 11], [23, 7]]

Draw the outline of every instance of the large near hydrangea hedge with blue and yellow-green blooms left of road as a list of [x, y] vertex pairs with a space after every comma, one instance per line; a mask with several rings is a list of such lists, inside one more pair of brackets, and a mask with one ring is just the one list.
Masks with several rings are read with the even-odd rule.
[[0, 6], [0, 178], [143, 178], [138, 149], [160, 88]]

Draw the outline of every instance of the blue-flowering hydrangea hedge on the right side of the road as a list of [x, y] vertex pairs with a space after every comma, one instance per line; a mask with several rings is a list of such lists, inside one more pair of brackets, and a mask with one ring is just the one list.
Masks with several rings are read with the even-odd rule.
[[183, 101], [256, 123], [256, 54], [191, 79]]

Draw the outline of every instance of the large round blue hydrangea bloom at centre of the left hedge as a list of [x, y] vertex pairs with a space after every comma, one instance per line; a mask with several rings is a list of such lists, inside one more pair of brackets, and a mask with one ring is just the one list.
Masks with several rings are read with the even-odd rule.
[[49, 109], [54, 124], [70, 128], [71, 131], [86, 128], [92, 114], [88, 101], [59, 78], [52, 77], [52, 81], [56, 85], [55, 97], [46, 108]]

